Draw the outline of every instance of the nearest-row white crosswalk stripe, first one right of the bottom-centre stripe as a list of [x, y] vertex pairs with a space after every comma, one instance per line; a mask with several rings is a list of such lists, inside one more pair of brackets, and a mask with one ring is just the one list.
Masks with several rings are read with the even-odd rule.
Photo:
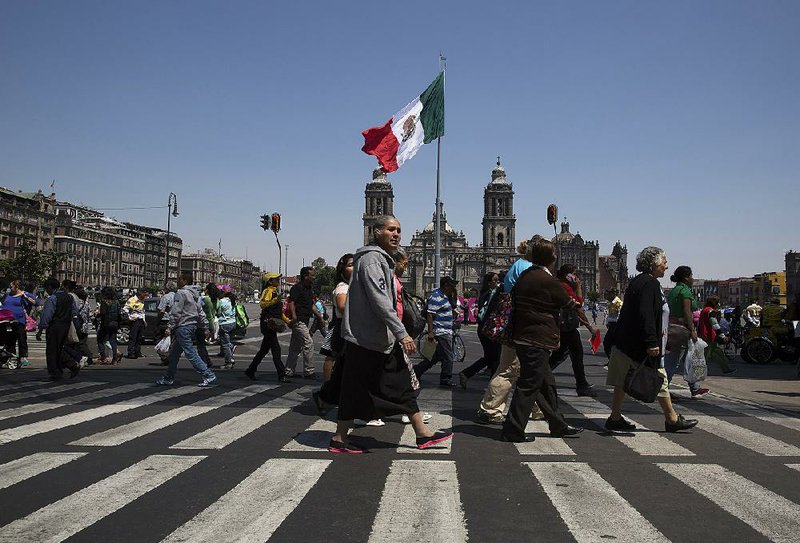
[[578, 543], [669, 541], [589, 464], [526, 462]]

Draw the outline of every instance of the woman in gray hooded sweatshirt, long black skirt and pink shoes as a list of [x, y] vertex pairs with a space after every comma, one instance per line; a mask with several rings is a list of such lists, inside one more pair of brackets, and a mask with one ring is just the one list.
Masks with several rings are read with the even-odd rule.
[[405, 362], [416, 346], [397, 316], [390, 254], [400, 245], [400, 223], [391, 215], [379, 217], [372, 234], [374, 244], [356, 251], [353, 259], [342, 319], [345, 364], [336, 433], [328, 445], [332, 453], [364, 452], [348, 441], [355, 418], [408, 415], [420, 449], [453, 437], [451, 431], [434, 433], [425, 426]]

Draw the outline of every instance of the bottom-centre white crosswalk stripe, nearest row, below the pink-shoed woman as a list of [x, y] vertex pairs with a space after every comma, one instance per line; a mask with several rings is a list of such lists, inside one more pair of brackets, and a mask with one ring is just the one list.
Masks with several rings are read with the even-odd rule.
[[369, 541], [462, 543], [466, 525], [455, 462], [395, 460]]

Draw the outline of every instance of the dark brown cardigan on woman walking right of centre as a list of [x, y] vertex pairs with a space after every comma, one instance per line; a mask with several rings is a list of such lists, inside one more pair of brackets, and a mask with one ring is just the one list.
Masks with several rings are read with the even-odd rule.
[[574, 303], [558, 279], [541, 267], [528, 268], [517, 279], [512, 297], [514, 343], [551, 351], [558, 349], [559, 313], [561, 308]]

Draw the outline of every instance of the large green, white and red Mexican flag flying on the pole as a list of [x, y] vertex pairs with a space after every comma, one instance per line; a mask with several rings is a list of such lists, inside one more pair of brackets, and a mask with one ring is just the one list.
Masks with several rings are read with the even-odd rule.
[[361, 150], [375, 155], [385, 172], [397, 170], [423, 144], [444, 135], [444, 72], [385, 125], [368, 128], [361, 134]]

